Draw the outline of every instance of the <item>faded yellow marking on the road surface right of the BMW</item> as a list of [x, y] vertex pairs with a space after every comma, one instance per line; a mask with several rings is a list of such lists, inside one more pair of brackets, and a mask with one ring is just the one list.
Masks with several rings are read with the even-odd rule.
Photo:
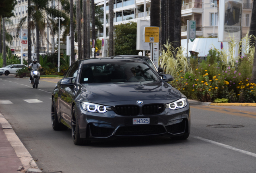
[[256, 119], [256, 113], [248, 112], [248, 111], [239, 111], [235, 109], [222, 108], [222, 107], [209, 107], [209, 106], [190, 106], [190, 108], [194, 109], [202, 109], [205, 111], [213, 111], [223, 114], [236, 115], [240, 117], [249, 117]]

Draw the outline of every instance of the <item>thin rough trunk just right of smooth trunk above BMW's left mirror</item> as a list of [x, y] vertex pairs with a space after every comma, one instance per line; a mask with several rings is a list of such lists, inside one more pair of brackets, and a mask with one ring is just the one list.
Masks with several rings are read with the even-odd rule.
[[82, 54], [82, 27], [81, 27], [81, 8], [80, 0], [76, 0], [76, 33], [77, 33], [77, 45], [78, 45], [78, 59], [83, 59]]

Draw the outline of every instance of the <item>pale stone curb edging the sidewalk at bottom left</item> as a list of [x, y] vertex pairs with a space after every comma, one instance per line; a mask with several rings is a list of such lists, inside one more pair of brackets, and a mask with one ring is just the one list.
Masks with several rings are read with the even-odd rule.
[[19, 137], [14, 132], [10, 123], [4, 118], [2, 114], [0, 114], [0, 124], [2, 125], [2, 129], [8, 141], [10, 142], [10, 145], [14, 149], [17, 157], [19, 157], [21, 160], [23, 168], [21, 168], [20, 171], [24, 173], [42, 173], [30, 155], [29, 151], [27, 151]]

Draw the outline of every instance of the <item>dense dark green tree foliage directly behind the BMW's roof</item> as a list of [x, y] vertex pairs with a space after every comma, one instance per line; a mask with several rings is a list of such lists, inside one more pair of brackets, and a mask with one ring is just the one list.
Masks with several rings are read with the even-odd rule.
[[115, 55], [138, 54], [136, 50], [137, 24], [129, 22], [115, 26]]

